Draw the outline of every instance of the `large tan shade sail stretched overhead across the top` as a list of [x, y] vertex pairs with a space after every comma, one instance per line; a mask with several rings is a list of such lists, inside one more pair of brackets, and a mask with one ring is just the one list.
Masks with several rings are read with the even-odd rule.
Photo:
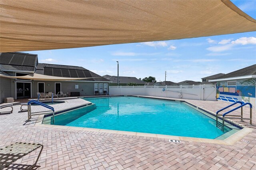
[[229, 0], [1, 0], [0, 8], [1, 52], [256, 31]]

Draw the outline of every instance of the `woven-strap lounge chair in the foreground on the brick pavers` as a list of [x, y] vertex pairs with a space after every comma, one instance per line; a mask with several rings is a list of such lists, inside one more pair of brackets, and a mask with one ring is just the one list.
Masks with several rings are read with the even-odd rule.
[[26, 156], [30, 152], [36, 150], [37, 148], [41, 148], [38, 157], [36, 159], [36, 162], [30, 166], [32, 169], [34, 166], [36, 166], [36, 163], [42, 153], [42, 150], [44, 146], [42, 144], [37, 143], [28, 143], [28, 142], [16, 142], [13, 144], [10, 144], [8, 146], [4, 146], [0, 148], [0, 169], [4, 169], [16, 160], [22, 158], [23, 156]]

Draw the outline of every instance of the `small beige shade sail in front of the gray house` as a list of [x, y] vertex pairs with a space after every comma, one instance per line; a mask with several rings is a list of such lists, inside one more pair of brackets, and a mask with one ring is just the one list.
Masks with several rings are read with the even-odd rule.
[[43, 74], [37, 74], [37, 73], [31, 73], [24, 76], [8, 76], [8, 75], [0, 74], [0, 77], [8, 77], [11, 79], [39, 80], [39, 81], [86, 80], [86, 79], [98, 78], [98, 77], [90, 77], [90, 78], [56, 77], [56, 76], [43, 75]]

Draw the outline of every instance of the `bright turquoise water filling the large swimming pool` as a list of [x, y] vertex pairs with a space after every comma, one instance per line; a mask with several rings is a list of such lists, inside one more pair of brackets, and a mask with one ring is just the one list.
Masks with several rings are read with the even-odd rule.
[[182, 102], [142, 97], [86, 100], [95, 105], [56, 115], [54, 124], [210, 139], [224, 134], [214, 119]]

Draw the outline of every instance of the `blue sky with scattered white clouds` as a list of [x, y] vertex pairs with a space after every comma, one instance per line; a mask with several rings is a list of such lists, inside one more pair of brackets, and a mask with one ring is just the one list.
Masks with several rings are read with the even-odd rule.
[[[256, 0], [232, 0], [256, 19]], [[169, 40], [24, 51], [38, 54], [40, 63], [75, 65], [99, 75], [156, 77], [157, 81], [201, 81], [202, 77], [230, 73], [256, 64], [256, 32]]]

